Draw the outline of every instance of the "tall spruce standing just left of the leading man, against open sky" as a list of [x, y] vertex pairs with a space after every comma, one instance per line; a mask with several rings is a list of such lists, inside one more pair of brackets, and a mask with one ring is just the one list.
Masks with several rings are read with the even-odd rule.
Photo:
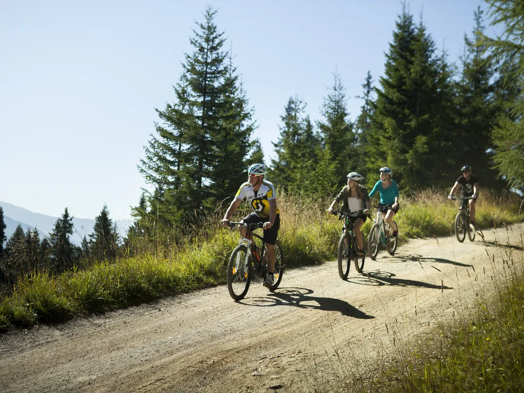
[[157, 135], [151, 136], [140, 162], [146, 181], [162, 191], [148, 194], [149, 223], [177, 225], [214, 208], [238, 187], [238, 179], [226, 174], [245, 172], [253, 110], [231, 54], [222, 49], [224, 33], [217, 29], [215, 15], [208, 6], [204, 23], [193, 30], [194, 50], [184, 54], [180, 81], [174, 86], [177, 101], [157, 110], [162, 124], [157, 124]]

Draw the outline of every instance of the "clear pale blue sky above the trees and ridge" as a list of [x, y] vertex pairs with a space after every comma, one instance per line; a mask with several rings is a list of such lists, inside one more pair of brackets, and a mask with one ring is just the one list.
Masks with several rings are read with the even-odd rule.
[[[266, 157], [279, 115], [298, 94], [319, 107], [335, 69], [354, 119], [355, 96], [384, 52], [401, 2], [337, 0], [216, 3], [192, 1], [25, 1], [0, 3], [0, 201], [60, 216], [94, 218], [104, 203], [130, 216], [141, 187], [136, 168], [155, 132], [155, 108], [173, 102], [172, 85], [195, 20], [206, 4], [232, 43], [234, 64], [255, 108]], [[436, 46], [455, 61], [471, 34], [479, 0], [410, 1]], [[488, 28], [488, 34], [493, 28]]]

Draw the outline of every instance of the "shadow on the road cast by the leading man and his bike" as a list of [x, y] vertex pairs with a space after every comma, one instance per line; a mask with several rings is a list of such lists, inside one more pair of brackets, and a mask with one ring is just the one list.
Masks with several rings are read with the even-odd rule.
[[[353, 307], [350, 303], [336, 299], [319, 296], [310, 296], [313, 290], [307, 288], [279, 288], [277, 291], [269, 293], [270, 298], [249, 298], [249, 302], [240, 301], [239, 303], [267, 307], [272, 305], [291, 305], [303, 309], [316, 309], [323, 311], [339, 311], [342, 315], [351, 316], [358, 319], [372, 319], [373, 315]], [[309, 302], [316, 304], [307, 304]]]

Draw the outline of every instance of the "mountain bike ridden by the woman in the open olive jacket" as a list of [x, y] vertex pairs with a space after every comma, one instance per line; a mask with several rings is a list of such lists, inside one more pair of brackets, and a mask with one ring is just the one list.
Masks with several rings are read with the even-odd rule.
[[[339, 215], [344, 221], [342, 226], [342, 234], [339, 239], [339, 275], [343, 280], [347, 279], [347, 275], [350, 273], [351, 261], [355, 264], [357, 272], [362, 273], [364, 269], [364, 260], [366, 255], [359, 257], [357, 255], [357, 243], [353, 226], [355, 221], [358, 219], [357, 215], [362, 215], [364, 212], [358, 210], [356, 212], [345, 212], [342, 213], [340, 210], [333, 210], [331, 214]], [[362, 246], [364, 247], [364, 234], [361, 232]]]

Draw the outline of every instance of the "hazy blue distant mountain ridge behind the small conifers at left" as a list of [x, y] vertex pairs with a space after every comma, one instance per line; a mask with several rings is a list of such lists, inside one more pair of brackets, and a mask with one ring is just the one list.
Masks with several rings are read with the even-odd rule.
[[[6, 236], [7, 239], [13, 235], [18, 224], [22, 226], [24, 232], [27, 232], [27, 228], [36, 227], [40, 233], [40, 237], [48, 236], [54, 228], [54, 223], [57, 222], [59, 217], [52, 217], [45, 214], [34, 213], [27, 209], [20, 208], [20, 206], [13, 205], [11, 203], [0, 201], [0, 206], [4, 210], [4, 221], [7, 225]], [[71, 212], [69, 212], [71, 214]], [[125, 236], [129, 227], [127, 220], [113, 220], [116, 221], [117, 231], [120, 236]], [[77, 219], [73, 215], [74, 233], [71, 235], [71, 242], [76, 245], [82, 243], [82, 238], [93, 233], [95, 220], [90, 219]], [[5, 243], [4, 243], [5, 246]]]

